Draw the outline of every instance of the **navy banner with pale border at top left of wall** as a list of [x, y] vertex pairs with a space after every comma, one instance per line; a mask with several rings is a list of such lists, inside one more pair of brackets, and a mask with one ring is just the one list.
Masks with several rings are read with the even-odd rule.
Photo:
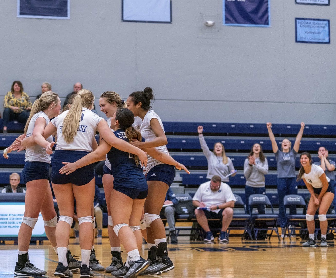
[[70, 0], [17, 0], [17, 17], [70, 19]]

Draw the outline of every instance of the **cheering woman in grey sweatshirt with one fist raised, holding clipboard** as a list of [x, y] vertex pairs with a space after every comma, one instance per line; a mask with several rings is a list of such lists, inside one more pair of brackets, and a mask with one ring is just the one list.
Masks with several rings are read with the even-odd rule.
[[[214, 175], [218, 175], [222, 178], [222, 182], [228, 184], [229, 177], [225, 176], [234, 172], [235, 168], [233, 166], [232, 160], [225, 155], [223, 144], [220, 142], [215, 143], [213, 152], [211, 152], [203, 136], [203, 126], [199, 125], [197, 132], [199, 134], [201, 148], [208, 161], [207, 178], [211, 179]], [[234, 173], [232, 176], [235, 175], [236, 173]]]

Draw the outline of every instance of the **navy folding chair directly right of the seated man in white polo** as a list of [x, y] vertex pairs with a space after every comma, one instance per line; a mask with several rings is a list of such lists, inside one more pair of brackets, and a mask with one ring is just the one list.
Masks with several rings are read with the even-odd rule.
[[231, 230], [243, 230], [244, 233], [242, 239], [244, 239], [246, 233], [249, 234], [250, 238], [252, 239], [253, 237], [250, 229], [251, 215], [246, 213], [246, 206], [242, 197], [237, 194], [234, 195], [236, 202], [233, 209], [233, 219], [227, 229], [227, 233], [229, 235]]

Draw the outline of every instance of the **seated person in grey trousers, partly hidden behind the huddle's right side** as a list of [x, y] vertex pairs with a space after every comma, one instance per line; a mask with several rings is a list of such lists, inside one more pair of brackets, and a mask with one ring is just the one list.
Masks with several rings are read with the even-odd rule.
[[170, 232], [170, 242], [177, 243], [177, 236], [175, 232], [175, 208], [173, 205], [177, 205], [178, 200], [175, 197], [174, 192], [171, 188], [168, 188], [164, 205], [168, 205], [162, 208], [160, 214], [167, 217], [169, 232]]

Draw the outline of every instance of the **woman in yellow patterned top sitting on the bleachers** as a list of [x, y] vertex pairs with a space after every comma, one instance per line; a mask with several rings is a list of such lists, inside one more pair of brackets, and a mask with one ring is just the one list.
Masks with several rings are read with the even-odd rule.
[[10, 91], [3, 101], [3, 135], [7, 134], [7, 125], [10, 120], [17, 120], [26, 124], [29, 111], [32, 109], [29, 95], [23, 91], [20, 81], [14, 81]]

